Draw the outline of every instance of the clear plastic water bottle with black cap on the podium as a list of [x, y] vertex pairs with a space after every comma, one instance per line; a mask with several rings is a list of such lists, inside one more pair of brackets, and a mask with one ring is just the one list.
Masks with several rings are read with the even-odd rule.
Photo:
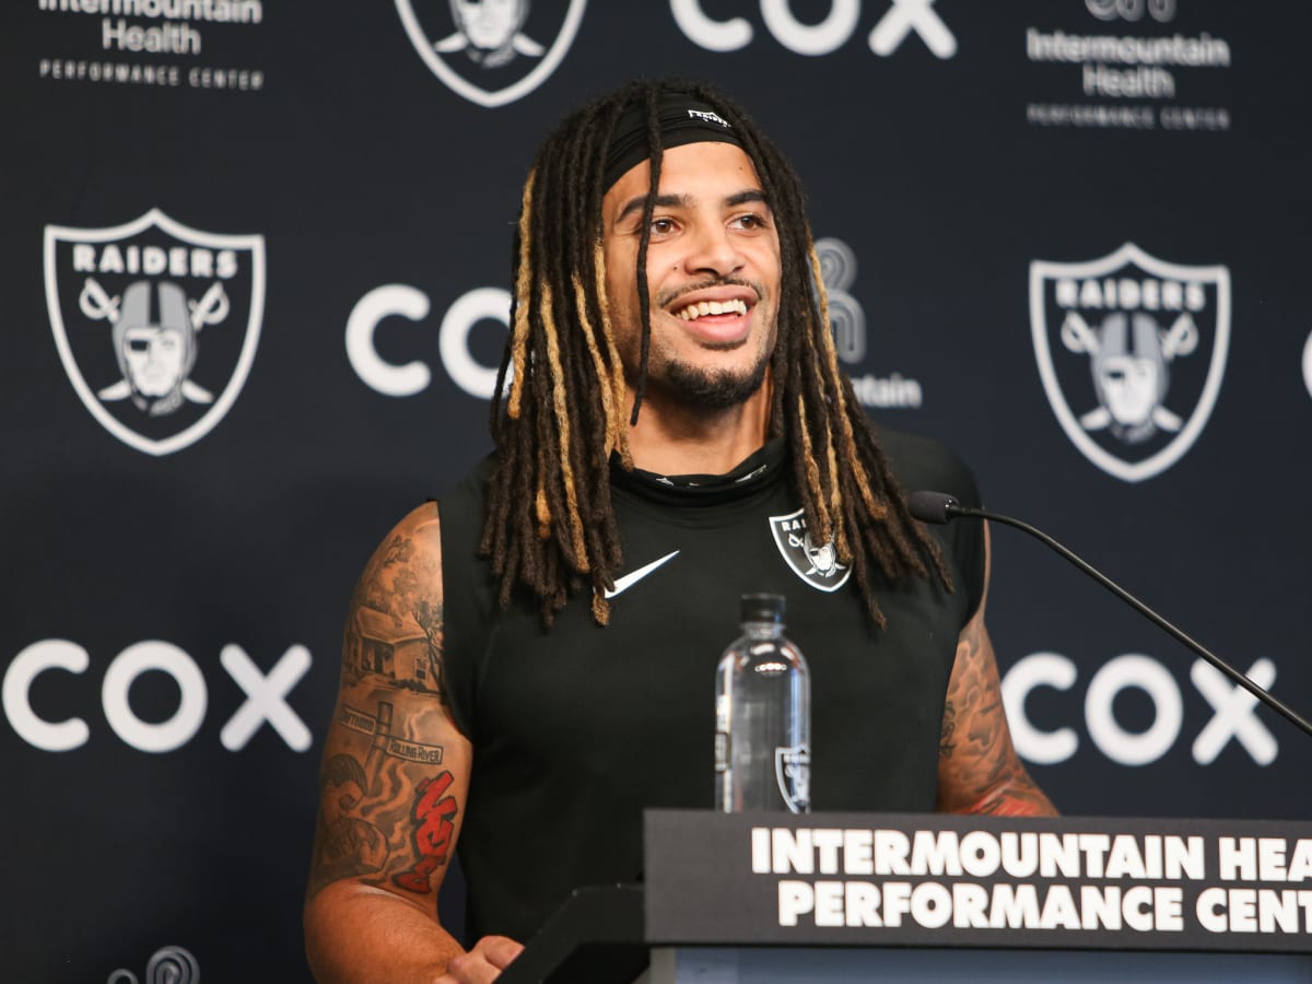
[[715, 808], [811, 812], [811, 680], [783, 638], [783, 596], [743, 596], [715, 676]]

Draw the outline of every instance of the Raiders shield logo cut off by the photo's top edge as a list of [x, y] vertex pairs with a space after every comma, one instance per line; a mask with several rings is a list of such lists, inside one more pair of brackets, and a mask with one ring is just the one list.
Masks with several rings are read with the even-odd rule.
[[420, 58], [480, 106], [538, 88], [565, 56], [588, 0], [396, 0]]

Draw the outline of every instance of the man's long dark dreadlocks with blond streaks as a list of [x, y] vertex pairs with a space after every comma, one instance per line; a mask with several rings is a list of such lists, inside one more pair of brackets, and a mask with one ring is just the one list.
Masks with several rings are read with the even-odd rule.
[[[621, 564], [610, 500], [610, 462], [632, 468], [628, 426], [647, 380], [651, 308], [647, 248], [660, 185], [659, 101], [681, 93], [712, 108], [752, 159], [779, 236], [782, 279], [770, 436], [790, 442], [794, 484], [807, 529], [833, 541], [850, 564], [871, 622], [886, 625], [874, 594], [876, 572], [891, 581], [928, 577], [929, 560], [951, 590], [938, 543], [911, 518], [851, 383], [838, 370], [828, 300], [800, 182], [747, 114], [719, 92], [694, 83], [640, 81], [565, 118], [538, 151], [523, 188], [514, 236], [510, 337], [497, 375], [491, 479], [480, 552], [500, 577], [500, 604], [516, 584], [541, 601], [547, 625], [571, 590], [590, 583], [592, 611], [609, 622], [605, 590]], [[647, 114], [651, 188], [638, 248], [642, 354], [626, 419], [625, 367], [610, 321], [601, 206], [606, 155], [617, 121], [640, 105]], [[789, 421], [787, 424], [785, 421]]]

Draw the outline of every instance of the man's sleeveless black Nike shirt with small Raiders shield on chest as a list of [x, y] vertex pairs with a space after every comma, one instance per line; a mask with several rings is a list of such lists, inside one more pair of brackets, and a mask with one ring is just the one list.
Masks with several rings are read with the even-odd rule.
[[[908, 492], [979, 505], [941, 445], [892, 430], [880, 442]], [[491, 468], [440, 501], [443, 682], [474, 745], [458, 846], [471, 939], [525, 941], [572, 888], [634, 880], [644, 807], [711, 807], [715, 668], [744, 593], [786, 596], [785, 631], [810, 666], [812, 810], [934, 808], [947, 680], [984, 584], [979, 523], [934, 527], [955, 590], [883, 585], [888, 627], [875, 630], [854, 579], [808, 542], [778, 442], [726, 476], [617, 467], [625, 564], [610, 626], [576, 597], [544, 630], [526, 592], [497, 609], [476, 556]]]

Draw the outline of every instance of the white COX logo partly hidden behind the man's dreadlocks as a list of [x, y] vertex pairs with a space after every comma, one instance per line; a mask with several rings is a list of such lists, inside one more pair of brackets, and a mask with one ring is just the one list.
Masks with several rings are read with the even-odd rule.
[[[375, 332], [383, 319], [400, 316], [411, 321], [428, 318], [428, 295], [404, 283], [386, 283], [362, 297], [346, 319], [346, 358], [370, 387], [384, 396], [413, 396], [428, 388], [432, 370], [422, 362], [395, 365], [386, 361], [375, 345]], [[470, 396], [491, 399], [496, 390], [497, 366], [480, 363], [470, 350], [470, 336], [480, 321], [500, 321], [509, 328], [510, 294], [500, 287], [478, 287], [461, 297], [442, 318], [437, 349], [447, 374]]]

